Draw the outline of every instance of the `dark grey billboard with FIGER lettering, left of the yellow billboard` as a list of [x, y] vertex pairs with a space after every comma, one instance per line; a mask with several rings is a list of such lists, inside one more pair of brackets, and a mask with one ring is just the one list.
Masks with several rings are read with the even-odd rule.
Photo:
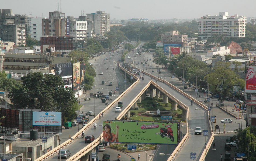
[[55, 74], [60, 77], [72, 75], [71, 63], [55, 64]]

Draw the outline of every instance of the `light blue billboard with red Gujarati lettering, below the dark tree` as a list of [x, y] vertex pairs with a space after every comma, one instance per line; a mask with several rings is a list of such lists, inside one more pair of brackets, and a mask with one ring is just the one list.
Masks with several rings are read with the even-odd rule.
[[[32, 125], [61, 126], [61, 112], [35, 112], [32, 113]], [[55, 115], [55, 116], [47, 116]]]

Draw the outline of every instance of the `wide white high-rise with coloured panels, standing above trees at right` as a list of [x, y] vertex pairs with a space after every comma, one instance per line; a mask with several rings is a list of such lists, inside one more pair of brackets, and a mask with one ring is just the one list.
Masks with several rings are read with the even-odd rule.
[[229, 16], [228, 12], [220, 12], [219, 16], [206, 15], [198, 19], [198, 37], [206, 40], [212, 35], [223, 37], [245, 37], [246, 17]]

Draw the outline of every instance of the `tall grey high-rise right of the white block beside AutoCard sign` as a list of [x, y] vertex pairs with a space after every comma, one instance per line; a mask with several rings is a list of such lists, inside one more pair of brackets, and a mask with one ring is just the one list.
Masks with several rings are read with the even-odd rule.
[[87, 13], [87, 19], [93, 21], [94, 34], [104, 35], [110, 31], [110, 14], [104, 11], [97, 11], [96, 13]]

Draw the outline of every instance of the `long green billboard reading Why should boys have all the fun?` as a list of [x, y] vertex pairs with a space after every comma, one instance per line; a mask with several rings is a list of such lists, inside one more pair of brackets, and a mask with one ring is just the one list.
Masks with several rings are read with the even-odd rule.
[[103, 121], [104, 142], [167, 144], [167, 139], [169, 144], [177, 144], [177, 123]]

